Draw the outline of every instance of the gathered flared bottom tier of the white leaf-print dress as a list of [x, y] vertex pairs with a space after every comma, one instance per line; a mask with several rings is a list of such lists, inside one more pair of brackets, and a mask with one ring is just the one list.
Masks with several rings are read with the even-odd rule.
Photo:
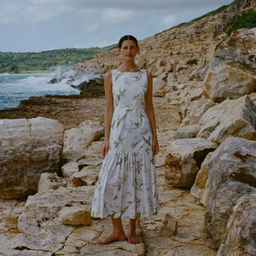
[[108, 151], [96, 184], [91, 216], [139, 218], [159, 210], [152, 152]]

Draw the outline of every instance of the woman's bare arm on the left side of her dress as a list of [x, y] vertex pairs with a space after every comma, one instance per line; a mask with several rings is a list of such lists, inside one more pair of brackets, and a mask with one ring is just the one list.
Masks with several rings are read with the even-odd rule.
[[113, 118], [113, 94], [112, 94], [112, 74], [109, 71], [104, 77], [104, 90], [106, 98], [106, 107], [104, 115], [105, 138], [102, 147], [102, 157], [104, 158], [108, 153], [109, 135], [111, 128], [111, 121]]

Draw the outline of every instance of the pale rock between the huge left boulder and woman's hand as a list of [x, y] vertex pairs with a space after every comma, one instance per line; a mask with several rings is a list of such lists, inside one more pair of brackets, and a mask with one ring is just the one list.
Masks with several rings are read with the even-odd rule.
[[64, 133], [62, 159], [79, 159], [85, 148], [103, 135], [104, 128], [100, 122], [84, 121], [79, 128], [72, 128]]

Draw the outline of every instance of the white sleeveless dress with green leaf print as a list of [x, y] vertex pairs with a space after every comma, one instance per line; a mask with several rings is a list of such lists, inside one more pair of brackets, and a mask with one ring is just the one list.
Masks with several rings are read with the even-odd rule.
[[152, 131], [144, 98], [147, 71], [112, 70], [109, 149], [96, 183], [91, 216], [139, 218], [159, 210]]

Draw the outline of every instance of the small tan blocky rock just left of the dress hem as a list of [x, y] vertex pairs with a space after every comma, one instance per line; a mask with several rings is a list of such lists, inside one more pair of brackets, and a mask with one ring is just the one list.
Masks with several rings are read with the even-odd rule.
[[62, 224], [73, 226], [91, 224], [90, 210], [88, 211], [86, 206], [63, 207], [59, 212], [59, 217]]

